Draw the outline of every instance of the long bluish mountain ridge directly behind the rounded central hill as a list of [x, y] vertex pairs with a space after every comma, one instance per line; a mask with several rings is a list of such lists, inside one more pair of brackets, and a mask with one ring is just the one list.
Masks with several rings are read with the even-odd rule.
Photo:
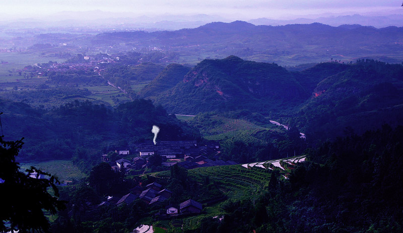
[[113, 32], [90, 38], [93, 46], [126, 44], [157, 47], [206, 58], [229, 55], [281, 65], [355, 61], [369, 57], [386, 62], [403, 60], [403, 30], [361, 25], [332, 27], [320, 23], [255, 26], [244, 21], [215, 22], [177, 31]]

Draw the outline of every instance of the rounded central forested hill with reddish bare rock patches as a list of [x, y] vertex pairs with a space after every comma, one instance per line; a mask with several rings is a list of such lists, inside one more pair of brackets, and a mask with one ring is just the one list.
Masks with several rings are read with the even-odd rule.
[[206, 59], [157, 103], [174, 113], [213, 110], [272, 109], [300, 103], [304, 91], [293, 75], [277, 64], [245, 61], [236, 56]]

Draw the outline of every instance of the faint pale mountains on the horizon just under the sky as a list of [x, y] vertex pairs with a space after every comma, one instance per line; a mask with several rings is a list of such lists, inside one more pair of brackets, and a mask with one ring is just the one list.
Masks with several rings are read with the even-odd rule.
[[[322, 14], [321, 16], [307, 15], [295, 16], [290, 20], [279, 20], [270, 18], [250, 19], [247, 22], [254, 25], [287, 25], [287, 24], [312, 24], [321, 23], [330, 26], [343, 24], [359, 24], [362, 26], [373, 26], [383, 28], [388, 26], [403, 26], [403, 14], [391, 12], [390, 15], [359, 15], [359, 14]], [[49, 18], [52, 19], [49, 21]], [[183, 28], [196, 28], [211, 22], [231, 22], [230, 19], [219, 15], [194, 14], [194, 15], [138, 15], [131, 12], [104, 12], [104, 11], [83, 11], [83, 12], [59, 12], [46, 17], [32, 17], [15, 19], [12, 16], [3, 17], [3, 27], [17, 28], [46, 28], [46, 27], [89, 27], [97, 29], [117, 30], [179, 30]], [[25, 24], [24, 24], [25, 23]]]

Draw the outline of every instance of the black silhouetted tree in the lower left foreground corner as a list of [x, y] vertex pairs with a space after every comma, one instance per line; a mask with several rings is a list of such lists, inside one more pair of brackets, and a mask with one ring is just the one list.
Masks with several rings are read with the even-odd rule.
[[[34, 167], [26, 172], [43, 174], [49, 179], [35, 179], [21, 172], [15, 157], [23, 145], [22, 139], [5, 141], [3, 137], [0, 136], [0, 231], [47, 232], [49, 221], [43, 210], [54, 214], [56, 210], [65, 208], [65, 201], [58, 200], [55, 183], [59, 182], [54, 176]], [[47, 191], [49, 187], [52, 187], [54, 195]]]

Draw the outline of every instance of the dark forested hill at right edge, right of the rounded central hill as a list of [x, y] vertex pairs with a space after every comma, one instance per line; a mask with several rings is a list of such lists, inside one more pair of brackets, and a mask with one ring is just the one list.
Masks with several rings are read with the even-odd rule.
[[360, 60], [319, 82], [296, 121], [322, 134], [318, 137], [340, 135], [346, 127], [362, 133], [384, 123], [398, 125], [402, 88], [402, 65]]

